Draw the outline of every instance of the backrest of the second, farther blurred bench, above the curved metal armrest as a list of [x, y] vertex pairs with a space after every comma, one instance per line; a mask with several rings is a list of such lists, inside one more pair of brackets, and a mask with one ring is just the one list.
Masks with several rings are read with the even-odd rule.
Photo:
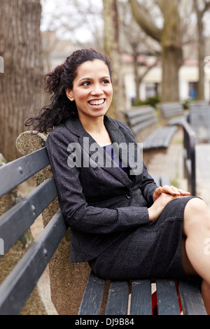
[[183, 105], [179, 102], [167, 102], [158, 104], [160, 111], [160, 120], [163, 125], [172, 125], [173, 120], [183, 120], [186, 116], [186, 111]]

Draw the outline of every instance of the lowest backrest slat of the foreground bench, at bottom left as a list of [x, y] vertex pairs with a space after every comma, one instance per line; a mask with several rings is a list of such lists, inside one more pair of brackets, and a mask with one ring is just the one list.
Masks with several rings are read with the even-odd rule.
[[1, 315], [20, 312], [65, 233], [66, 224], [59, 210], [3, 281], [0, 287]]

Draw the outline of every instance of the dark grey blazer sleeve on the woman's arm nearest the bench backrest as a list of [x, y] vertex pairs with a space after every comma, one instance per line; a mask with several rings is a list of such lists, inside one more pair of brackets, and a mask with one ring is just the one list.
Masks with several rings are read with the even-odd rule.
[[108, 209], [87, 204], [80, 183], [80, 168], [70, 168], [67, 164], [69, 137], [65, 135], [61, 131], [52, 131], [46, 149], [66, 223], [74, 230], [99, 234], [132, 230], [149, 223], [147, 207]]

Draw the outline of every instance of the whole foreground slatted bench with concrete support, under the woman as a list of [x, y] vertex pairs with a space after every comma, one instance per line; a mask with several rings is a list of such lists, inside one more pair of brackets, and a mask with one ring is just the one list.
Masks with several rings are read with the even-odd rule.
[[[58, 295], [55, 295], [53, 302], [56, 305], [57, 299], [60, 300], [61, 304], [56, 305], [59, 314], [64, 314], [66, 306], [66, 314], [71, 314], [72, 302], [67, 305], [66, 303], [72, 297], [78, 297], [76, 296], [78, 285], [84, 287], [80, 298], [82, 302], [80, 304], [79, 301], [80, 307], [78, 307], [80, 316], [152, 314], [152, 284], [153, 286], [155, 284], [157, 289], [158, 310], [155, 314], [181, 314], [179, 298], [183, 314], [207, 314], [200, 288], [193, 283], [186, 281], [176, 283], [174, 279], [108, 281], [95, 276], [86, 263], [73, 264], [68, 272], [70, 229], [66, 228], [57, 204], [57, 190], [50, 172], [44, 143], [45, 137], [42, 134], [34, 135], [31, 132], [21, 134], [17, 141], [18, 149], [25, 154], [33, 152], [0, 167], [1, 200], [3, 195], [8, 197], [10, 191], [34, 174], [38, 185], [1, 216], [0, 238], [1, 242], [3, 241], [5, 255], [0, 257], [6, 258], [10, 248], [13, 248], [15, 242], [29, 230], [39, 214], [43, 214], [45, 221], [41, 235], [29, 246], [25, 255], [1, 284], [0, 314], [20, 313], [48, 262], [52, 262], [50, 281], [55, 275], [57, 284], [54, 293], [58, 290]], [[168, 177], [164, 175], [154, 176], [154, 179], [158, 185], [170, 184]], [[76, 278], [79, 279], [74, 284]], [[66, 286], [63, 290], [59, 290], [64, 282]], [[101, 308], [104, 309], [104, 313]]]

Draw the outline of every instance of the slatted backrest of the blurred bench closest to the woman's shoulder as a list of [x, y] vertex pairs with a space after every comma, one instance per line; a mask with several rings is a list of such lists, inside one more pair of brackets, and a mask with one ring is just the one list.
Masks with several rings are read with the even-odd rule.
[[155, 116], [155, 109], [152, 106], [141, 106], [127, 111], [125, 118], [127, 118], [127, 123], [134, 134], [158, 121]]

